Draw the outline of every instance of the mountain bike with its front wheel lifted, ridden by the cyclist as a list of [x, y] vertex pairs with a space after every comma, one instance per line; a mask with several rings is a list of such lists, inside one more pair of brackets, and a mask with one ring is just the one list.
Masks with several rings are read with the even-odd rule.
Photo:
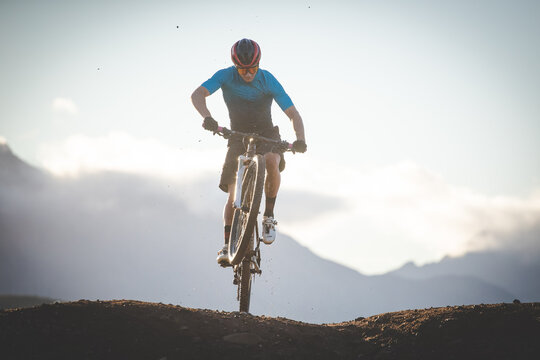
[[219, 126], [214, 134], [226, 139], [239, 138], [246, 145], [246, 152], [238, 157], [234, 215], [229, 238], [229, 263], [232, 265], [233, 284], [238, 286], [237, 300], [240, 311], [249, 311], [251, 282], [261, 274], [261, 237], [258, 215], [264, 189], [266, 165], [263, 155], [256, 153], [257, 144], [271, 143], [281, 152], [292, 151], [292, 144], [257, 134], [243, 133]]

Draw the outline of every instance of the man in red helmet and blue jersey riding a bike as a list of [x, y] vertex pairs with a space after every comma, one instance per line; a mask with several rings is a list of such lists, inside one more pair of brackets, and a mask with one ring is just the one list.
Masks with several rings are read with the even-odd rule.
[[[280, 140], [279, 129], [272, 123], [271, 105], [275, 100], [279, 107], [291, 119], [296, 141], [293, 150], [305, 152], [307, 149], [302, 117], [296, 110], [291, 98], [277, 79], [267, 70], [259, 69], [261, 48], [250, 39], [237, 41], [231, 48], [231, 58], [234, 66], [221, 69], [210, 79], [199, 86], [191, 95], [195, 109], [204, 118], [203, 127], [216, 131], [218, 123], [212, 118], [206, 106], [206, 97], [221, 88], [223, 99], [229, 110], [231, 130], [256, 133], [264, 137]], [[225, 245], [218, 252], [217, 262], [227, 266], [228, 242], [233, 218], [233, 202], [235, 178], [238, 169], [238, 156], [245, 152], [240, 139], [229, 139], [227, 155], [221, 173], [219, 188], [227, 192], [228, 199], [223, 209]], [[276, 238], [277, 221], [274, 217], [274, 205], [281, 183], [280, 172], [285, 167], [283, 153], [273, 148], [271, 144], [260, 144], [257, 153], [264, 155], [266, 160], [265, 210], [262, 229], [263, 242], [271, 244]]]

